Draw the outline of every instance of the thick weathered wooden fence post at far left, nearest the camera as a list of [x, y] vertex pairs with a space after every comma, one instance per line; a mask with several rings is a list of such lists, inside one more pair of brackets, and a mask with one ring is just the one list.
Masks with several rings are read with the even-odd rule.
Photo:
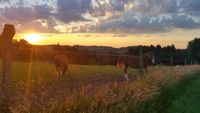
[[11, 51], [12, 39], [15, 35], [14, 25], [5, 24], [0, 35], [0, 48], [2, 55], [2, 92], [6, 94], [11, 82]]

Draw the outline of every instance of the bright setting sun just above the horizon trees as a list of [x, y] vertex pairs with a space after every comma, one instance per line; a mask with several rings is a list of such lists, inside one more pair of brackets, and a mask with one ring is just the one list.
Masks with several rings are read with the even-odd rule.
[[41, 35], [39, 34], [27, 34], [24, 39], [31, 44], [38, 44], [40, 42]]

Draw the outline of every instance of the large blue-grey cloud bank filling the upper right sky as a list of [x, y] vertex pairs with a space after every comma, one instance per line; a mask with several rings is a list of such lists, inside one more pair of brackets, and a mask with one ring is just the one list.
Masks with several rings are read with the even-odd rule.
[[[101, 32], [160, 33], [173, 29], [200, 28], [199, 0], [135, 0], [132, 10], [102, 21]], [[192, 14], [196, 14], [193, 17]]]

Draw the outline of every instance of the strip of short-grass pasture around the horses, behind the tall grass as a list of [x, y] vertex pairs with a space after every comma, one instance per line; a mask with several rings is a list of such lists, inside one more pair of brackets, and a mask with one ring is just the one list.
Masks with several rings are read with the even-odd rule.
[[[131, 75], [138, 73], [135, 69], [130, 69], [129, 72]], [[122, 74], [123, 69], [116, 66], [69, 65], [69, 72], [65, 76], [61, 76], [59, 80], [61, 80], [60, 82], [98, 80], [109, 77], [118, 78]], [[57, 81], [56, 68], [52, 62], [13, 62], [12, 76], [14, 82], [39, 79], [43, 79], [45, 82]]]

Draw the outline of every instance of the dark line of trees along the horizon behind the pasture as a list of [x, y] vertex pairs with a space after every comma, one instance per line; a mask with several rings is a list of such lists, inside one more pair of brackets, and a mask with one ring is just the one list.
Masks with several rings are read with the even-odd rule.
[[[103, 47], [102, 47], [103, 48]], [[106, 49], [106, 48], [105, 48]], [[139, 55], [137, 46], [125, 47], [125, 55]], [[28, 62], [30, 60], [53, 61], [55, 54], [64, 53], [72, 64], [94, 64], [94, 65], [115, 65], [118, 59], [120, 48], [112, 48], [105, 55], [98, 55], [98, 51], [80, 51], [76, 46], [57, 45], [31, 45], [21, 39], [13, 42], [13, 60]], [[162, 47], [161, 45], [143, 46], [143, 52], [153, 52], [156, 64], [170, 65], [173, 58], [173, 65], [184, 65], [200, 62], [200, 38], [188, 42], [186, 49], [176, 49], [174, 45]], [[120, 53], [120, 55], [122, 55]], [[32, 59], [30, 59], [32, 58]]]

